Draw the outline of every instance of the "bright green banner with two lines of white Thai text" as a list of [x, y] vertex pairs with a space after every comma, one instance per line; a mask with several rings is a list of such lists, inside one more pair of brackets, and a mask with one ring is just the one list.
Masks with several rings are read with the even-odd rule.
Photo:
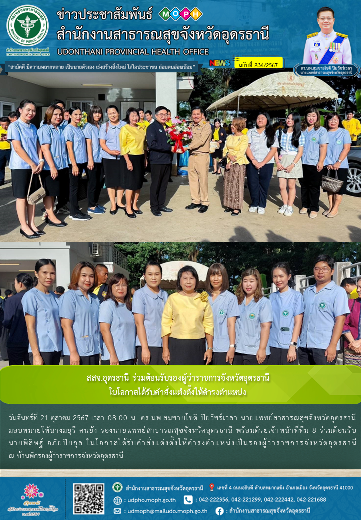
[[356, 366], [10, 366], [8, 404], [357, 404]]

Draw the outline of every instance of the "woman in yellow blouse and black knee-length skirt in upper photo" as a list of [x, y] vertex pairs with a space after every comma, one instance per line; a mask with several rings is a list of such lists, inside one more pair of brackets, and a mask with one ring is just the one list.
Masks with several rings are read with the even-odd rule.
[[125, 116], [128, 125], [122, 127], [119, 134], [122, 151], [121, 185], [126, 190], [125, 213], [133, 219], [136, 214], [143, 213], [138, 208], [138, 199], [147, 166], [146, 133], [138, 126], [139, 119], [138, 109], [128, 108]]

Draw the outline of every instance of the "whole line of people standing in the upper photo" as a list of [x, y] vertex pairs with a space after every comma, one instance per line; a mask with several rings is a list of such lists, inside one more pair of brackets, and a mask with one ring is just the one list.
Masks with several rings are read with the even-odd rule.
[[[65, 109], [64, 101], [53, 100], [37, 129], [31, 122], [37, 107], [25, 99], [13, 121], [0, 119], [0, 183], [8, 162], [19, 233], [26, 239], [39, 239], [46, 226], [66, 227], [66, 217], [89, 221], [110, 214], [109, 226], [119, 210], [131, 219], [149, 215], [149, 210], [154, 217], [172, 213], [167, 188], [173, 182], [174, 163], [187, 168], [190, 203], [186, 210], [207, 212], [209, 178], [215, 174], [222, 178], [224, 213], [241, 214], [247, 195], [248, 212], [263, 215], [276, 176], [282, 200], [278, 214], [294, 214], [298, 180], [302, 203], [298, 213], [318, 217], [322, 190], [328, 197], [322, 216], [332, 219], [342, 210], [347, 155], [361, 134], [353, 111], [343, 120], [336, 112], [321, 118], [317, 107], [309, 107], [302, 117], [290, 112], [279, 125], [272, 124], [267, 111], [260, 111], [254, 122], [237, 116], [226, 125], [219, 118], [210, 121], [202, 107], [194, 106], [188, 120], [191, 138], [181, 148], [172, 144], [167, 133], [175, 120], [163, 105], [154, 114], [130, 107], [124, 120], [115, 104], [107, 106], [104, 114], [99, 105], [92, 105], [88, 114], [79, 106]], [[151, 174], [148, 211], [139, 205], [147, 172]], [[83, 199], [86, 209], [80, 203]], [[34, 220], [37, 201], [43, 204], [46, 226], [41, 229]]]

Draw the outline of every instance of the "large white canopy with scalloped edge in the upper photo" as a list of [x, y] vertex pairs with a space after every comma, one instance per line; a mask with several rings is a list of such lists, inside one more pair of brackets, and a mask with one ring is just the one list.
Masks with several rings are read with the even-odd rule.
[[338, 93], [316, 76], [275, 72], [231, 92], [207, 107], [210, 110], [278, 110], [337, 100]]

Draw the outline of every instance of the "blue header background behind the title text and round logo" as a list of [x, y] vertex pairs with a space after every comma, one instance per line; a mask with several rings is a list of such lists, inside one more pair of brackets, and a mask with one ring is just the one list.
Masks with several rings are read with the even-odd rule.
[[[174, 2], [174, 3], [173, 3]], [[303, 52], [306, 42], [307, 34], [319, 31], [317, 24], [317, 9], [319, 9], [323, 3], [322, 0], [314, 1], [309, 0], [307, 3], [299, 2], [298, 0], [278, 0], [277, 2], [269, 2], [267, 0], [252, 1], [249, 0], [226, 0], [219, 2], [219, 0], [197, 0], [196, 2], [177, 2], [175, 0], [164, 2], [102, 2], [98, 0], [89, 0], [87, 2], [81, 2], [80, 0], [65, 0], [59, 3], [58, 1], [49, 0], [31, 0], [30, 4], [36, 5], [44, 10], [49, 20], [49, 32], [45, 39], [38, 44], [38, 47], [50, 47], [50, 56], [45, 59], [104, 59], [106, 56], [58, 56], [56, 53], [57, 47], [146, 47], [151, 49], [152, 47], [208, 47], [209, 56], [201, 57], [198, 56], [199, 63], [203, 63], [204, 66], [209, 65], [209, 59], [231, 59], [231, 66], [233, 66], [233, 56], [282, 56], [285, 58], [285, 67], [293, 67], [297, 63], [302, 63]], [[22, 5], [23, 2], [19, 1], [18, 5]], [[100, 10], [100, 9], [111, 9], [115, 10], [117, 5], [122, 5], [123, 10], [131, 10], [133, 6], [139, 5], [141, 10], [147, 10], [153, 5], [153, 18], [152, 20], [60, 20], [56, 15], [56, 11], [60, 7], [64, 6], [64, 9], [82, 9], [86, 7], [88, 10]], [[351, 42], [351, 48], [353, 53], [353, 63], [358, 63], [360, 60], [359, 55], [359, 40], [357, 27], [359, 27], [358, 20], [358, 7], [356, 2], [344, 2], [343, 0], [333, 0], [331, 7], [335, 11], [335, 25], [334, 29], [338, 32], [348, 34]], [[2, 30], [0, 31], [0, 58], [2, 63], [4, 60], [16, 60], [17, 58], [6, 57], [6, 47], [20, 47], [15, 44], [8, 36], [6, 32], [6, 19], [10, 11], [15, 8], [17, 4], [9, 3], [8, 1], [0, 0], [1, 14], [2, 14]], [[174, 7], [182, 9], [188, 7], [192, 9], [197, 7], [202, 11], [202, 16], [194, 21], [192, 18], [188, 18], [184, 21], [179, 18], [177, 21], [169, 19], [164, 21], [159, 16], [159, 12], [162, 8], [169, 7], [171, 10]], [[262, 25], [269, 25], [270, 27], [270, 38], [269, 40], [237, 40], [230, 41], [229, 45], [226, 45], [224, 41], [210, 41], [200, 40], [193, 41], [189, 40], [184, 42], [179, 39], [178, 41], [172, 40], [171, 45], [168, 45], [165, 41], [161, 40], [143, 40], [143, 41], [126, 41], [126, 40], [57, 40], [56, 31], [65, 25], [66, 30], [75, 29], [76, 25], [82, 25], [83, 29], [91, 31], [93, 29], [136, 29], [136, 30], [164, 30], [164, 29], [177, 29], [181, 30], [183, 25], [190, 26], [190, 29], [206, 30], [207, 25], [214, 25], [214, 29], [219, 30], [240, 30], [240, 29], [258, 29], [260, 30]], [[26, 49], [26, 47], [23, 47]], [[126, 59], [126, 56], [111, 56], [109, 58]], [[147, 59], [147, 56], [129, 56], [130, 59]], [[38, 57], [27, 57], [26, 59], [41, 59]], [[195, 56], [152, 56], [148, 59], [162, 59], [162, 60], [174, 60], [174, 59], [189, 59], [194, 60]]]

